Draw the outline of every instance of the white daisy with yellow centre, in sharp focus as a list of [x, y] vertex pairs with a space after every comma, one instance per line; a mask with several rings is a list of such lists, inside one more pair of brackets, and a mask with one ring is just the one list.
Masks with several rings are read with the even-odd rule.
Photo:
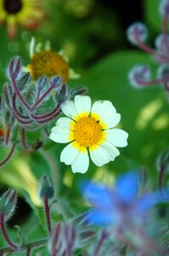
[[128, 134], [113, 128], [121, 114], [109, 101], [94, 102], [89, 96], [75, 96], [65, 102], [61, 117], [52, 128], [50, 139], [55, 143], [69, 143], [61, 152], [60, 161], [71, 165], [72, 172], [87, 172], [90, 154], [96, 166], [104, 166], [120, 154], [116, 147], [127, 146]]

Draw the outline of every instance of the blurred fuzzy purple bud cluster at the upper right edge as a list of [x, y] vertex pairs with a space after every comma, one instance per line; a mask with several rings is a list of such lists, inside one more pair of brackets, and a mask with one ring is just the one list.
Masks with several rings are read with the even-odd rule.
[[150, 80], [150, 70], [147, 65], [141, 65], [132, 68], [129, 73], [130, 83], [137, 88], [161, 84], [164, 89], [169, 91], [169, 35], [166, 24], [169, 18], [169, 0], [161, 0], [159, 12], [163, 19], [162, 31], [155, 38], [155, 49], [145, 43], [147, 38], [147, 28], [141, 22], [136, 22], [127, 29], [127, 38], [132, 43], [143, 49], [149, 55], [153, 55], [155, 61], [159, 64], [156, 78]]

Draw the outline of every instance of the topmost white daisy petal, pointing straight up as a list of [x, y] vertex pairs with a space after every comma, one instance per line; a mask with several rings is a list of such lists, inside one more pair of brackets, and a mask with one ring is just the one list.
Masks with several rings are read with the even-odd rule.
[[76, 112], [81, 116], [88, 116], [91, 110], [91, 98], [89, 96], [77, 95], [75, 96]]

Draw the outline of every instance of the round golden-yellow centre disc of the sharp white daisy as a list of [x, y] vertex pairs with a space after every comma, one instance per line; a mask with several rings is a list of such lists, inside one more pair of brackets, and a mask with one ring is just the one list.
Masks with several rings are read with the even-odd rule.
[[92, 117], [78, 119], [75, 125], [74, 138], [83, 147], [92, 147], [99, 143], [102, 137], [102, 127]]

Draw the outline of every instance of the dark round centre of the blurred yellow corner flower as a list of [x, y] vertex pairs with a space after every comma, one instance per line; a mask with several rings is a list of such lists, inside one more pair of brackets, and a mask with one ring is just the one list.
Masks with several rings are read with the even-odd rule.
[[3, 7], [8, 12], [8, 14], [14, 15], [19, 13], [20, 9], [22, 9], [22, 1], [21, 0], [4, 0]]

